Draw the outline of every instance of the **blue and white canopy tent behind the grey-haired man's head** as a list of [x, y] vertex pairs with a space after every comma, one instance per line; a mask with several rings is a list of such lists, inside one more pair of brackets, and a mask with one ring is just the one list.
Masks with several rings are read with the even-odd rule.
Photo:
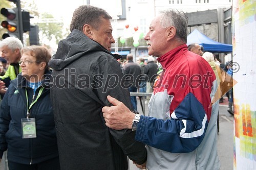
[[200, 33], [197, 29], [187, 36], [187, 45], [198, 43], [204, 47], [204, 51], [211, 53], [231, 53], [232, 45], [214, 41]]

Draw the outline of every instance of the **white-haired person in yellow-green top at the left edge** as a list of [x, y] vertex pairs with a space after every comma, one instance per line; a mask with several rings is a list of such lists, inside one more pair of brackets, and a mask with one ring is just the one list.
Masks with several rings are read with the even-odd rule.
[[23, 44], [18, 38], [7, 37], [0, 42], [0, 51], [2, 52], [2, 58], [7, 60], [10, 65], [4, 76], [0, 76], [0, 93], [5, 94], [11, 80], [14, 80], [21, 68], [19, 67], [19, 60], [22, 57]]

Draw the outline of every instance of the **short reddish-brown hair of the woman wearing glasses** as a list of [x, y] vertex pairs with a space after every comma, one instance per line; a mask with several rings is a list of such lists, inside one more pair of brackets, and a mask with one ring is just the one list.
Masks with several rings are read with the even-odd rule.
[[48, 63], [52, 56], [46, 47], [39, 45], [25, 46], [23, 53], [35, 57], [37, 63], [46, 62], [45, 70], [49, 70]]

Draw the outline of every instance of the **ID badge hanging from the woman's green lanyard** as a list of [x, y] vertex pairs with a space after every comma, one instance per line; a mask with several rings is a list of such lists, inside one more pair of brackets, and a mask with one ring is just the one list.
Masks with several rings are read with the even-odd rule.
[[22, 118], [22, 138], [35, 138], [35, 118]]

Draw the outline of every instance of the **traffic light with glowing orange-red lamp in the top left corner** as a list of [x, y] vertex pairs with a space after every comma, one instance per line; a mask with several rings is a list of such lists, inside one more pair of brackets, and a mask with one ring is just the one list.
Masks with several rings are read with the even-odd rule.
[[17, 8], [2, 8], [1, 14], [7, 17], [7, 20], [2, 21], [1, 23], [1, 26], [8, 30], [8, 33], [4, 34], [3, 38], [14, 36], [20, 39]]

